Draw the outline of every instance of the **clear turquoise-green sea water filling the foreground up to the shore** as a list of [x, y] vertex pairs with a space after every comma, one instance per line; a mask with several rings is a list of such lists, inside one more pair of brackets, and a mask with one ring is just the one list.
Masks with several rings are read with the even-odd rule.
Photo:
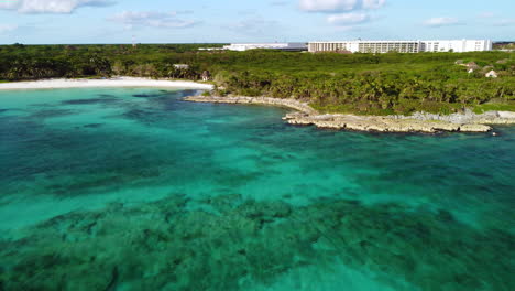
[[194, 93], [0, 93], [0, 290], [515, 290], [514, 127], [325, 131]]

